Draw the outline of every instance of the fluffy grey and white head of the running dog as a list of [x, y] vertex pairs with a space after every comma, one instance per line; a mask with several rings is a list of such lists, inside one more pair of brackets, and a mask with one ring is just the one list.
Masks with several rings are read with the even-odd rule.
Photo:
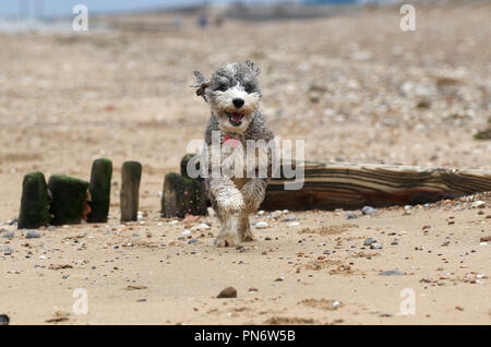
[[199, 71], [196, 94], [209, 104], [223, 131], [244, 132], [261, 101], [260, 69], [251, 61], [227, 63], [205, 79]]

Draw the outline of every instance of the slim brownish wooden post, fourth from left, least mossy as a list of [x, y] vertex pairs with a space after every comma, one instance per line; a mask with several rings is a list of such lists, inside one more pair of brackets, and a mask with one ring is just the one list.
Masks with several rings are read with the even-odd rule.
[[137, 220], [140, 180], [142, 165], [137, 161], [125, 161], [121, 168], [121, 222]]

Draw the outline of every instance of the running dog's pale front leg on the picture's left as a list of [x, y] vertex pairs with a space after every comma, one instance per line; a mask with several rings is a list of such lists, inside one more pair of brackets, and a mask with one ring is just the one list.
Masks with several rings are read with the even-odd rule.
[[227, 177], [212, 178], [209, 192], [214, 196], [221, 222], [215, 243], [221, 247], [236, 246], [241, 240], [239, 228], [244, 208], [242, 193]]

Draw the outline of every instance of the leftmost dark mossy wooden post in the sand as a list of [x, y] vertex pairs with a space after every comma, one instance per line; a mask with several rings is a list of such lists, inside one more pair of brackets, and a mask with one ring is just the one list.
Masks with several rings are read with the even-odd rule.
[[41, 172], [28, 174], [22, 182], [19, 229], [37, 229], [49, 224], [48, 186]]

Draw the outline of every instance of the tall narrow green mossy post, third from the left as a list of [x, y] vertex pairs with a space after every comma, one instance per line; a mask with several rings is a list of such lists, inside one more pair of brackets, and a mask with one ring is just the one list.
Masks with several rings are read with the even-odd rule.
[[112, 163], [109, 159], [100, 158], [92, 164], [91, 183], [91, 214], [87, 216], [88, 223], [106, 223], [109, 213], [111, 195]]

